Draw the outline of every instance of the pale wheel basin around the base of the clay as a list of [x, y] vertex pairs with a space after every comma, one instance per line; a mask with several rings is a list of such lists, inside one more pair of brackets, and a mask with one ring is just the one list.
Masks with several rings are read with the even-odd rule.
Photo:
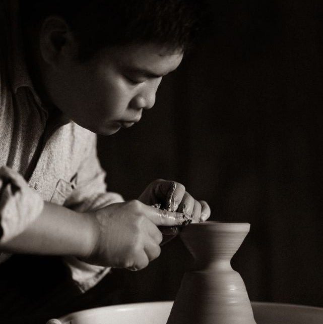
[[[47, 324], [165, 324], [172, 305], [172, 301], [165, 301], [92, 308], [49, 320]], [[251, 305], [257, 324], [323, 323], [323, 308], [263, 302]]]

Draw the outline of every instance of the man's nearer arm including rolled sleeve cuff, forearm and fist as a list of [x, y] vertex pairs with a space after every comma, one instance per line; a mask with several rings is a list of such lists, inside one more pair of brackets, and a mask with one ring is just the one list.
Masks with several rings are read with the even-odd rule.
[[91, 212], [44, 203], [17, 172], [0, 171], [0, 252], [72, 255], [103, 266], [142, 268], [160, 253], [157, 226], [182, 222], [182, 214], [138, 200]]

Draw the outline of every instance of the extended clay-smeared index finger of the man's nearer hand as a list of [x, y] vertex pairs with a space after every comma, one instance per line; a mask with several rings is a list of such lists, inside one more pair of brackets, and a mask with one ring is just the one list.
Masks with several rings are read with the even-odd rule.
[[181, 212], [162, 210], [152, 206], [147, 206], [145, 216], [157, 226], [177, 226], [185, 221], [185, 216]]

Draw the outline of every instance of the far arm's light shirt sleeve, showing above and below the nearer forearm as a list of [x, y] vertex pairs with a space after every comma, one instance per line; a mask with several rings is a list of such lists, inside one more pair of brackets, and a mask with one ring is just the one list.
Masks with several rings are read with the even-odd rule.
[[[124, 201], [118, 193], [107, 192], [106, 174], [97, 157], [96, 135], [93, 134], [88, 144], [91, 145], [91, 149], [76, 175], [76, 188], [64, 203], [64, 206], [78, 212], [97, 210]], [[66, 257], [65, 261], [81, 292], [92, 288], [110, 271], [110, 267], [91, 265], [75, 257]]]

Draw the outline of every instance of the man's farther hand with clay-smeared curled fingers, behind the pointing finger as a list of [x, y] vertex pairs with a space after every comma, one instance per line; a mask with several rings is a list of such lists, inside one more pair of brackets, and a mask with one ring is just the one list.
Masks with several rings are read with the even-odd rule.
[[163, 209], [184, 213], [192, 223], [205, 222], [211, 209], [204, 200], [195, 200], [185, 187], [175, 181], [153, 181], [138, 200], [148, 205], [161, 204]]

